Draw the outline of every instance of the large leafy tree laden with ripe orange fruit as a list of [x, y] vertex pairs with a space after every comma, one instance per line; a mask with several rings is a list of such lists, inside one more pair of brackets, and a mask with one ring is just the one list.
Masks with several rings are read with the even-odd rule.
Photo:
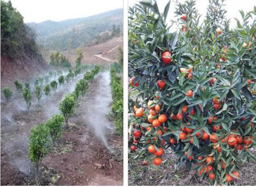
[[256, 144], [256, 8], [229, 29], [223, 4], [210, 0], [200, 23], [195, 1], [176, 2], [172, 26], [170, 2], [129, 8], [130, 159], [160, 165], [171, 148], [212, 185], [234, 184]]

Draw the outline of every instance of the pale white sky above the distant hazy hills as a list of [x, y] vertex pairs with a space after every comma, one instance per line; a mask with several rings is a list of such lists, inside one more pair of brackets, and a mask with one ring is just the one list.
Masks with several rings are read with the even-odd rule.
[[11, 0], [11, 3], [22, 14], [25, 23], [59, 22], [123, 8], [122, 0]]

